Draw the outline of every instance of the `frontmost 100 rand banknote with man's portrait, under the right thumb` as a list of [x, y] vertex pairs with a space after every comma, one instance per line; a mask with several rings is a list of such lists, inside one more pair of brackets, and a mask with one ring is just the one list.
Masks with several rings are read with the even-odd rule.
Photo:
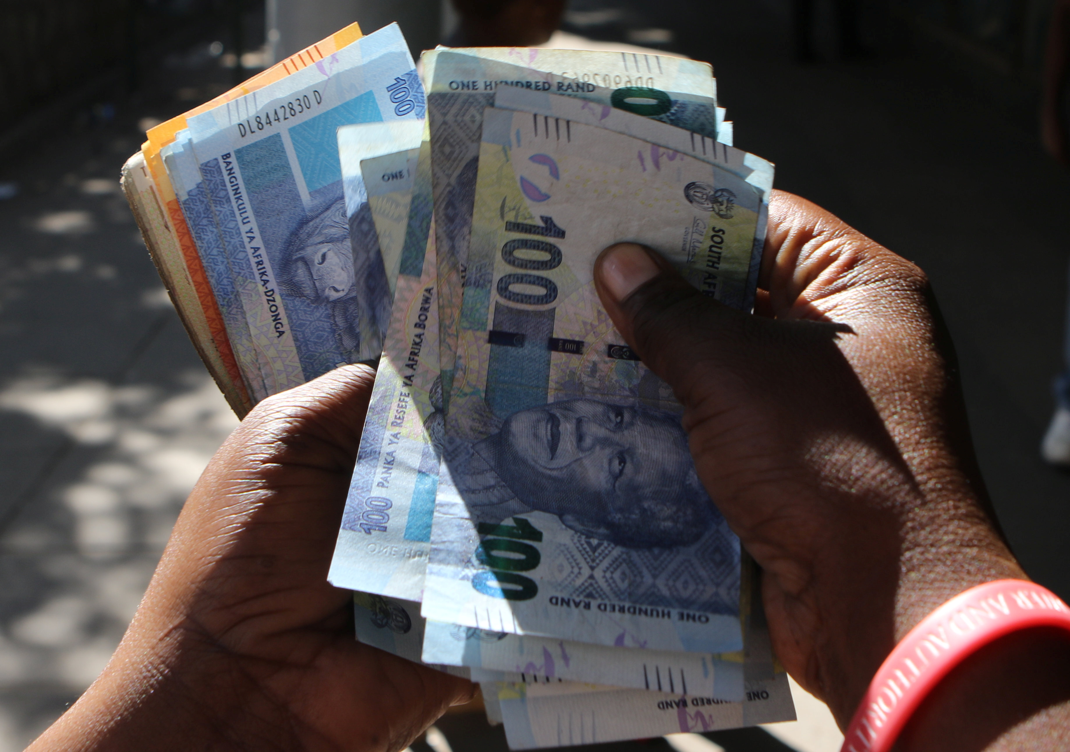
[[761, 194], [677, 152], [547, 123], [485, 111], [423, 614], [738, 649], [738, 540], [698, 481], [679, 405], [623, 346], [592, 273], [606, 245], [645, 243], [742, 306]]

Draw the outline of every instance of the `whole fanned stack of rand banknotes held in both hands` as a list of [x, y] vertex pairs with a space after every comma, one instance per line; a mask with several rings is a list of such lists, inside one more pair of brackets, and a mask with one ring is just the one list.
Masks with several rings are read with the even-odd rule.
[[124, 187], [231, 405], [378, 363], [328, 579], [513, 749], [794, 719], [672, 390], [592, 281], [635, 241], [749, 310], [773, 165], [708, 64], [354, 25], [150, 131]]

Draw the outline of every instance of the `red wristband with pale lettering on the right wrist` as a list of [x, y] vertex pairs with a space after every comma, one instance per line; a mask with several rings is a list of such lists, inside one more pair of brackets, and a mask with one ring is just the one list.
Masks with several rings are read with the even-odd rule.
[[970, 655], [1031, 627], [1070, 631], [1070, 608], [1025, 580], [997, 580], [944, 603], [896, 646], [851, 719], [841, 752], [888, 752], [926, 695]]

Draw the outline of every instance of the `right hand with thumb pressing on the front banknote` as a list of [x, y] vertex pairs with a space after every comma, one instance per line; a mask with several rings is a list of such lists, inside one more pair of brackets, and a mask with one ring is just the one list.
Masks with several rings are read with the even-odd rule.
[[1022, 578], [987, 513], [924, 275], [777, 191], [756, 312], [656, 254], [596, 264], [617, 328], [685, 406], [710, 496], [764, 570], [777, 656], [845, 725], [917, 621]]

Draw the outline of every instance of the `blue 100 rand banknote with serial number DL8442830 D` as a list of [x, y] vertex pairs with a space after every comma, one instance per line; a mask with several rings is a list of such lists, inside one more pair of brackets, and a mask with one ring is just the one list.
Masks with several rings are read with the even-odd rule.
[[[418, 119], [423, 89], [392, 25], [315, 66], [189, 119], [201, 173], [221, 175], [223, 203], [242, 229], [250, 335], [268, 352], [272, 388], [379, 354], [361, 321], [388, 313], [385, 285], [354, 274], [336, 131]], [[236, 260], [232, 260], [238, 264]], [[384, 304], [383, 301], [386, 301]]]

